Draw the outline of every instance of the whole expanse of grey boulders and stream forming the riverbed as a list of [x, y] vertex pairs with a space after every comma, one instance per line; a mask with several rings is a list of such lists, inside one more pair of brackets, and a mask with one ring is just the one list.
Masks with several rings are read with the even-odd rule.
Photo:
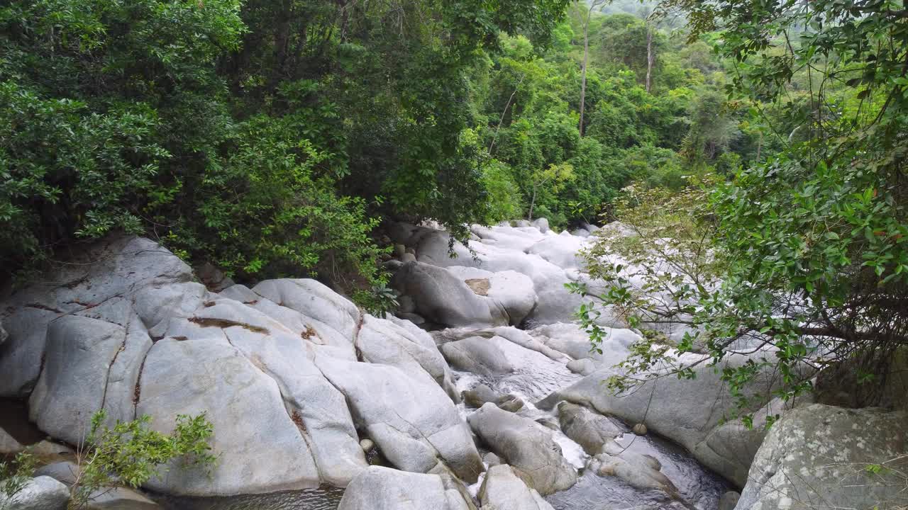
[[[164, 431], [206, 412], [211, 476], [174, 464], [143, 487], [156, 503], [132, 493], [125, 508], [714, 510], [735, 507], [743, 488], [746, 510], [809, 495], [779, 476], [803, 470], [811, 457], [795, 454], [809, 446], [776, 431], [803, 436], [801, 422], [828, 413], [821, 438], [834, 442], [866, 411], [806, 407], [764, 444], [761, 417], [785, 406], [755, 405], [754, 428], [725, 419], [734, 403], [705, 365], [694, 380], [609, 394], [602, 381], [637, 333], [605, 318], [603, 352], [591, 353], [565, 288], [586, 280], [577, 250], [595, 230], [474, 226], [452, 258], [443, 230], [394, 225], [401, 308], [386, 318], [315, 280], [234, 285], [151, 240], [105, 240], [0, 303], [0, 397], [25, 402], [60, 448], [78, 445], [101, 408], [112, 420], [150, 415]], [[773, 385], [767, 375], [755, 391]], [[873, 415], [886, 436], [836, 459], [899, 456], [901, 417]], [[646, 434], [631, 432], [638, 424]], [[17, 436], [0, 430], [0, 453], [37, 439]], [[65, 504], [61, 460], [26, 494], [48, 508]]]

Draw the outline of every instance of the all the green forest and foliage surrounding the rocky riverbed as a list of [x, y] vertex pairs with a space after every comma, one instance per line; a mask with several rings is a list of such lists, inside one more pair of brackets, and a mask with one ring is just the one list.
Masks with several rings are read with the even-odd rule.
[[27, 279], [124, 231], [376, 306], [382, 221], [466, 240], [636, 208], [709, 240], [715, 280], [674, 309], [620, 286], [607, 304], [686, 317], [716, 356], [757, 331], [791, 370], [805, 334], [833, 358], [896, 348], [905, 19], [895, 0], [5, 2], [0, 263]]

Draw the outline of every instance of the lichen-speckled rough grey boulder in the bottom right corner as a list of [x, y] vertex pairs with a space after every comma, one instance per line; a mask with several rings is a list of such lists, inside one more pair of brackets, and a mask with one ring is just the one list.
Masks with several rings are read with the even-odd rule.
[[[814, 404], [790, 410], [769, 430], [737, 510], [896, 508], [908, 504], [904, 411]], [[873, 467], [879, 466], [879, 467]]]

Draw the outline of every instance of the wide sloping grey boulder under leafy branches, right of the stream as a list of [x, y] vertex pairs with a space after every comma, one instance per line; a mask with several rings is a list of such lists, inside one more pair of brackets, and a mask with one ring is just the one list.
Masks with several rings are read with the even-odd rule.
[[[765, 355], [757, 353], [754, 356]], [[721, 379], [721, 370], [709, 367], [701, 359], [692, 354], [678, 358], [678, 363], [693, 367], [696, 378], [652, 378], [618, 395], [603, 387], [603, 381], [619, 374], [617, 368], [601, 366], [574, 385], [546, 397], [538, 407], [548, 409], [561, 400], [568, 400], [627, 423], [643, 423], [648, 430], [685, 446], [701, 463], [743, 485], [742, 474], [750, 466], [752, 452], [759, 446], [762, 435], [759, 431], [751, 433], [750, 429], [732, 426], [722, 428], [719, 435], [714, 435], [716, 428], [725, 424], [725, 418], [735, 414], [735, 401]], [[744, 355], [731, 355], [724, 360], [723, 366], [741, 366], [746, 360]], [[770, 374], [760, 373], [745, 392], [754, 402], [765, 401], [775, 384], [777, 381]], [[758, 409], [755, 406], [745, 410]]]

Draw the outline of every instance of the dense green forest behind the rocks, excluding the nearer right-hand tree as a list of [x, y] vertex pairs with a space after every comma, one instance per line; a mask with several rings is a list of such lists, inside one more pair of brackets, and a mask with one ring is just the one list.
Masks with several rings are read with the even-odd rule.
[[566, 228], [759, 152], [706, 42], [642, 7], [493, 4], [5, 5], [5, 267], [124, 230], [361, 287], [383, 218]]

